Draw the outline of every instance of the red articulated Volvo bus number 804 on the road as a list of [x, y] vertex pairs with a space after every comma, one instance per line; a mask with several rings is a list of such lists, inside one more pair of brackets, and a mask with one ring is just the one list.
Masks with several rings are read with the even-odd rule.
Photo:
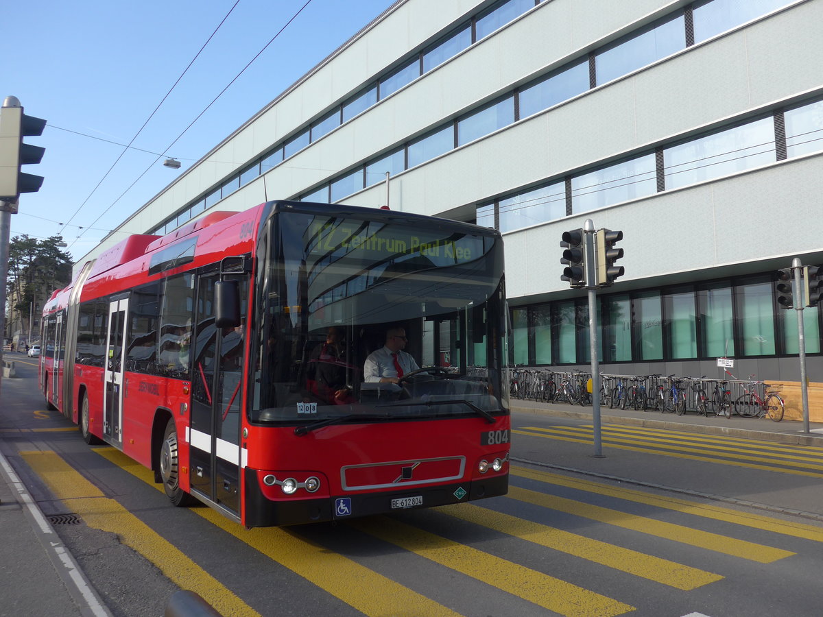
[[[213, 212], [123, 240], [53, 293], [40, 386], [172, 503], [246, 527], [501, 495], [503, 272], [500, 234], [477, 225], [307, 202]], [[423, 368], [374, 383], [387, 332]]]

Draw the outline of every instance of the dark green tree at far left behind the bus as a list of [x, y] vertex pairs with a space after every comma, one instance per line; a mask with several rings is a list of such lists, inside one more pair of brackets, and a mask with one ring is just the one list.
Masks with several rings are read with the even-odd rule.
[[72, 257], [61, 245], [65, 243], [60, 235], [40, 240], [23, 234], [9, 242], [7, 324], [11, 325], [14, 313], [28, 322], [32, 306], [42, 306], [53, 290], [72, 281]]

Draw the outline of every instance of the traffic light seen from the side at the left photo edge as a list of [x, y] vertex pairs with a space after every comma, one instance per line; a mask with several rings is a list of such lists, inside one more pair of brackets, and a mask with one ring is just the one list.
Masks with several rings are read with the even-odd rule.
[[7, 96], [0, 109], [0, 199], [16, 202], [20, 193], [35, 193], [43, 176], [24, 174], [21, 165], [35, 165], [45, 148], [23, 143], [23, 137], [43, 134], [46, 121], [23, 114], [16, 96]]

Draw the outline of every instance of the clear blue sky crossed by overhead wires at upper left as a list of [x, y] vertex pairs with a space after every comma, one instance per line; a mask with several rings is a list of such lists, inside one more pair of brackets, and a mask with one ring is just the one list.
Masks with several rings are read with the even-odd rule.
[[[49, 123], [41, 137], [26, 139], [46, 152], [40, 165], [24, 170], [45, 180], [38, 193], [21, 195], [20, 212], [12, 215], [12, 237], [62, 234], [68, 252], [81, 258], [109, 230], [393, 4], [310, 0], [166, 151], [306, 2], [239, 0], [132, 149], [109, 172], [123, 146], [235, 2], [6, 2], [0, 99], [14, 95], [26, 114]], [[152, 165], [160, 154], [165, 155]], [[182, 167], [164, 167], [166, 157], [180, 160]]]

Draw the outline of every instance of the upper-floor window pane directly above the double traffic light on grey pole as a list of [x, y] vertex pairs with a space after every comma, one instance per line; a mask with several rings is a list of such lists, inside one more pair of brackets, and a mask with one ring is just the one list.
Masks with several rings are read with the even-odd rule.
[[654, 154], [576, 176], [571, 189], [575, 214], [651, 195], [658, 190]]

